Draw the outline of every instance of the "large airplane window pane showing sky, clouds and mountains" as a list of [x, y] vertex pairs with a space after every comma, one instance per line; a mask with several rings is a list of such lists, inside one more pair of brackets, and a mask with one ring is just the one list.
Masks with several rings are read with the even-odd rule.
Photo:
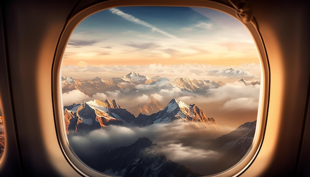
[[109, 8], [65, 48], [63, 125], [76, 156], [105, 175], [213, 175], [251, 148], [260, 82], [250, 32], [225, 13]]

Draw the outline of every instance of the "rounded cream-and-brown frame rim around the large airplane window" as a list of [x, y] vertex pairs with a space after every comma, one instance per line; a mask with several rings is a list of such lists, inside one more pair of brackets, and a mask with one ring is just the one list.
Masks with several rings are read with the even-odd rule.
[[[74, 151], [69, 146], [67, 139], [65, 126], [64, 126], [64, 116], [63, 116], [63, 104], [62, 104], [62, 90], [61, 90], [61, 63], [62, 57], [66, 48], [66, 45], [71, 37], [72, 32], [75, 30], [76, 26], [83, 21], [88, 16], [102, 11], [104, 9], [119, 7], [119, 6], [192, 6], [192, 7], [206, 7], [221, 11], [226, 13], [236, 19], [237, 10], [223, 4], [220, 2], [210, 1], [210, 0], [107, 0], [93, 4], [89, 7], [86, 7], [72, 16], [67, 24], [65, 25], [63, 32], [59, 38], [57, 48], [54, 55], [54, 62], [52, 66], [52, 100], [53, 100], [53, 112], [54, 112], [54, 121], [55, 128], [57, 133], [57, 139], [59, 146], [62, 150], [63, 155], [65, 156], [67, 162], [76, 170], [79, 174], [83, 176], [92, 176], [92, 177], [109, 177], [103, 175], [102, 173], [89, 168], [85, 163], [78, 159]], [[240, 23], [243, 23], [238, 19]], [[261, 147], [266, 121], [267, 121], [267, 112], [269, 104], [269, 85], [270, 85], [270, 72], [269, 72], [269, 63], [265, 50], [264, 43], [260, 36], [258, 30], [258, 24], [256, 24], [255, 19], [252, 19], [249, 23], [243, 23], [244, 26], [249, 30], [252, 35], [255, 44], [257, 46], [260, 66], [261, 66], [261, 83], [260, 83], [260, 93], [259, 93], [259, 105], [258, 105], [258, 117], [256, 132], [252, 146], [249, 148], [245, 156], [233, 167], [223, 171], [219, 174], [211, 175], [212, 177], [226, 177], [226, 176], [239, 176], [247, 170], [251, 164], [254, 162], [255, 158], [258, 155], [259, 149]]]

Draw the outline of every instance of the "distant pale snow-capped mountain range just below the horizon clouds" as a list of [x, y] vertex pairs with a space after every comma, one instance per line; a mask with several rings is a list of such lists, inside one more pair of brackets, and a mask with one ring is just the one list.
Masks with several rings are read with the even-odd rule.
[[135, 72], [131, 72], [120, 78], [103, 80], [96, 77], [90, 81], [81, 81], [71, 77], [61, 77], [62, 92], [67, 93], [74, 89], [92, 96], [96, 93], [106, 93], [107, 91], [118, 91], [124, 95], [150, 95], [159, 93], [160, 90], [174, 90], [180, 95], [205, 94], [209, 88], [220, 87], [214, 81], [198, 80], [189, 78], [168, 78], [148, 77]]

